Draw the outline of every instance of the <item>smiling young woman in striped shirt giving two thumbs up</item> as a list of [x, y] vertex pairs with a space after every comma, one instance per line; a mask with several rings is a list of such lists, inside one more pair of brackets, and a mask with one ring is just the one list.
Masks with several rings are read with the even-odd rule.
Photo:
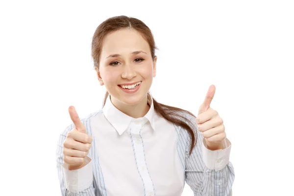
[[231, 143], [210, 107], [210, 86], [197, 118], [158, 103], [149, 89], [156, 75], [155, 43], [142, 21], [107, 19], [93, 36], [92, 57], [107, 93], [101, 110], [60, 135], [57, 170], [63, 196], [232, 195]]

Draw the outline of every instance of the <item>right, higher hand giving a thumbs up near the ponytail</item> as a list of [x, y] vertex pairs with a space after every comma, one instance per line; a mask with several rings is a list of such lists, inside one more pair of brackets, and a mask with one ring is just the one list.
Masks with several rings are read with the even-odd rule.
[[211, 85], [198, 110], [196, 123], [210, 150], [222, 149], [221, 142], [226, 138], [224, 125], [218, 112], [210, 107], [216, 87]]

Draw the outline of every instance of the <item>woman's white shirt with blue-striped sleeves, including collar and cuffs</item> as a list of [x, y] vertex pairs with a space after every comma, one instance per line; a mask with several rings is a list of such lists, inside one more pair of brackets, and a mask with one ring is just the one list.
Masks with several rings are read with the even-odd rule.
[[81, 119], [93, 142], [90, 162], [78, 170], [68, 170], [62, 152], [74, 124], [62, 131], [56, 149], [62, 196], [180, 196], [185, 182], [195, 196], [232, 195], [230, 141], [223, 141], [224, 149], [207, 149], [195, 123], [197, 143], [189, 155], [188, 132], [159, 117], [149, 93], [148, 103], [147, 114], [134, 119], [108, 96], [103, 109]]

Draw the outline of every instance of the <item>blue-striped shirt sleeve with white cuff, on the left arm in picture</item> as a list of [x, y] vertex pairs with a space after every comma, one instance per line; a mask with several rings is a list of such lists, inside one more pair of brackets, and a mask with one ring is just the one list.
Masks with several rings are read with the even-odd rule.
[[95, 196], [92, 160], [87, 157], [89, 163], [86, 166], [72, 171], [68, 170], [68, 165], [63, 162], [63, 142], [72, 128], [69, 126], [60, 134], [56, 149], [56, 166], [61, 194], [62, 196]]

